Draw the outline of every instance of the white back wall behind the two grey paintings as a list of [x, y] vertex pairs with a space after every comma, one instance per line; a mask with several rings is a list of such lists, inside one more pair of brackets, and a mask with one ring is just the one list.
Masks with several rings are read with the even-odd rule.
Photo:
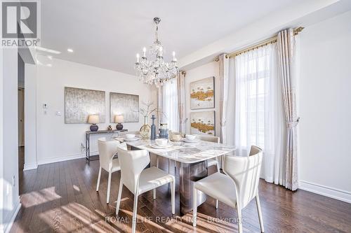
[[[46, 57], [39, 57], [41, 63], [46, 64]], [[141, 83], [136, 76], [119, 73], [93, 66], [67, 62], [61, 59], [49, 61], [52, 66], [37, 66], [37, 152], [39, 164], [69, 160], [85, 156], [81, 150], [81, 143], [85, 146], [85, 132], [88, 124], [65, 124], [64, 87], [79, 87], [106, 92], [105, 123], [98, 124], [99, 129], [107, 129], [110, 123], [109, 92], [138, 94], [141, 101], [154, 101], [156, 95], [150, 85]], [[48, 104], [44, 114], [43, 104]], [[55, 115], [60, 111], [62, 115]], [[129, 131], [139, 130], [143, 125], [143, 118], [138, 123], [124, 123]], [[28, 122], [27, 122], [28, 124]], [[100, 134], [100, 136], [104, 136]], [[91, 152], [97, 153], [96, 139], [91, 137]]]

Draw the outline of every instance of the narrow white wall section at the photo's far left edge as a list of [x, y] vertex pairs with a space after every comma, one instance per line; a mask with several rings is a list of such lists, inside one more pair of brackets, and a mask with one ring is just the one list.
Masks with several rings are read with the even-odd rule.
[[0, 85], [0, 232], [9, 230], [20, 207], [18, 192], [17, 62], [17, 49], [3, 49]]

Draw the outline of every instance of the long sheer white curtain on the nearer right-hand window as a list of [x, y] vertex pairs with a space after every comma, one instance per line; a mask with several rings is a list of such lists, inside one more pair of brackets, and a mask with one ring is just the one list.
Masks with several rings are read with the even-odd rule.
[[234, 145], [249, 151], [251, 145], [263, 149], [263, 172], [267, 182], [279, 183], [284, 149], [282, 90], [277, 78], [275, 44], [234, 57], [230, 69], [235, 90]]

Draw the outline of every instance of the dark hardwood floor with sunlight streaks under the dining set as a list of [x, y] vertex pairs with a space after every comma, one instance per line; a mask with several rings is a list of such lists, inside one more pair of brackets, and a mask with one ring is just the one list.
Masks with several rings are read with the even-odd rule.
[[[106, 204], [107, 172], [102, 172], [100, 191], [95, 192], [98, 166], [98, 161], [88, 164], [79, 159], [21, 171], [22, 208], [11, 232], [130, 232], [133, 195], [124, 188], [117, 221], [120, 173], [112, 175], [112, 202]], [[160, 166], [168, 171], [168, 162], [161, 161]], [[265, 232], [351, 232], [351, 204], [303, 190], [291, 192], [262, 180], [259, 188]], [[192, 213], [180, 218], [176, 209], [172, 216], [168, 185], [157, 190], [156, 200], [151, 191], [146, 192], [138, 200], [137, 232], [237, 232], [236, 211], [222, 203], [216, 210], [214, 205], [208, 197], [199, 206], [194, 228]], [[244, 232], [260, 232], [254, 200], [243, 218]]]

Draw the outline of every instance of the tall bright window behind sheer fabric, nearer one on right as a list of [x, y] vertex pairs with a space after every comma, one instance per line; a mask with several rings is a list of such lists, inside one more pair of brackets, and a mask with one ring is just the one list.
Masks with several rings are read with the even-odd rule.
[[274, 45], [266, 45], [235, 57], [235, 144], [249, 149], [259, 146], [273, 153], [279, 111], [279, 87]]

